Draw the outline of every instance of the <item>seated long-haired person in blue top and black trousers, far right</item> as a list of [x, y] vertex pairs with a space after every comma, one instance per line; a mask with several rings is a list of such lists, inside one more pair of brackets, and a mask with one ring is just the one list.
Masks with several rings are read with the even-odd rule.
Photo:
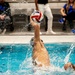
[[68, 0], [67, 3], [60, 10], [64, 21], [62, 30], [66, 30], [66, 20], [68, 21], [70, 29], [74, 28], [73, 20], [75, 20], [75, 0]]

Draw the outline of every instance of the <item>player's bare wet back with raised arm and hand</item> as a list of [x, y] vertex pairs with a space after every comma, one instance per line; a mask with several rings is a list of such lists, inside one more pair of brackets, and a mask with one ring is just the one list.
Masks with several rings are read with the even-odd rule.
[[30, 17], [30, 23], [34, 28], [33, 38], [33, 65], [37, 67], [50, 66], [48, 51], [46, 50], [43, 41], [40, 39], [40, 25], [34, 22]]

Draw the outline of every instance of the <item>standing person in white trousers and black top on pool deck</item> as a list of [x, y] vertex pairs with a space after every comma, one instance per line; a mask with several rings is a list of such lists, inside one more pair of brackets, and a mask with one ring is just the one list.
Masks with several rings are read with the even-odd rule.
[[55, 34], [52, 30], [53, 15], [48, 4], [48, 0], [35, 0], [36, 10], [40, 10], [48, 19], [46, 26], [47, 34]]

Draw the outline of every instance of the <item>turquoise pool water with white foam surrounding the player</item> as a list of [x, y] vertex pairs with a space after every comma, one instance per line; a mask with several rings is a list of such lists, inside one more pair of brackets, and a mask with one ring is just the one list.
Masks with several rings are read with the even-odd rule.
[[32, 47], [29, 44], [0, 44], [0, 75], [75, 75], [65, 71], [67, 62], [75, 64], [75, 43], [45, 44], [51, 67], [37, 68], [32, 64]]

